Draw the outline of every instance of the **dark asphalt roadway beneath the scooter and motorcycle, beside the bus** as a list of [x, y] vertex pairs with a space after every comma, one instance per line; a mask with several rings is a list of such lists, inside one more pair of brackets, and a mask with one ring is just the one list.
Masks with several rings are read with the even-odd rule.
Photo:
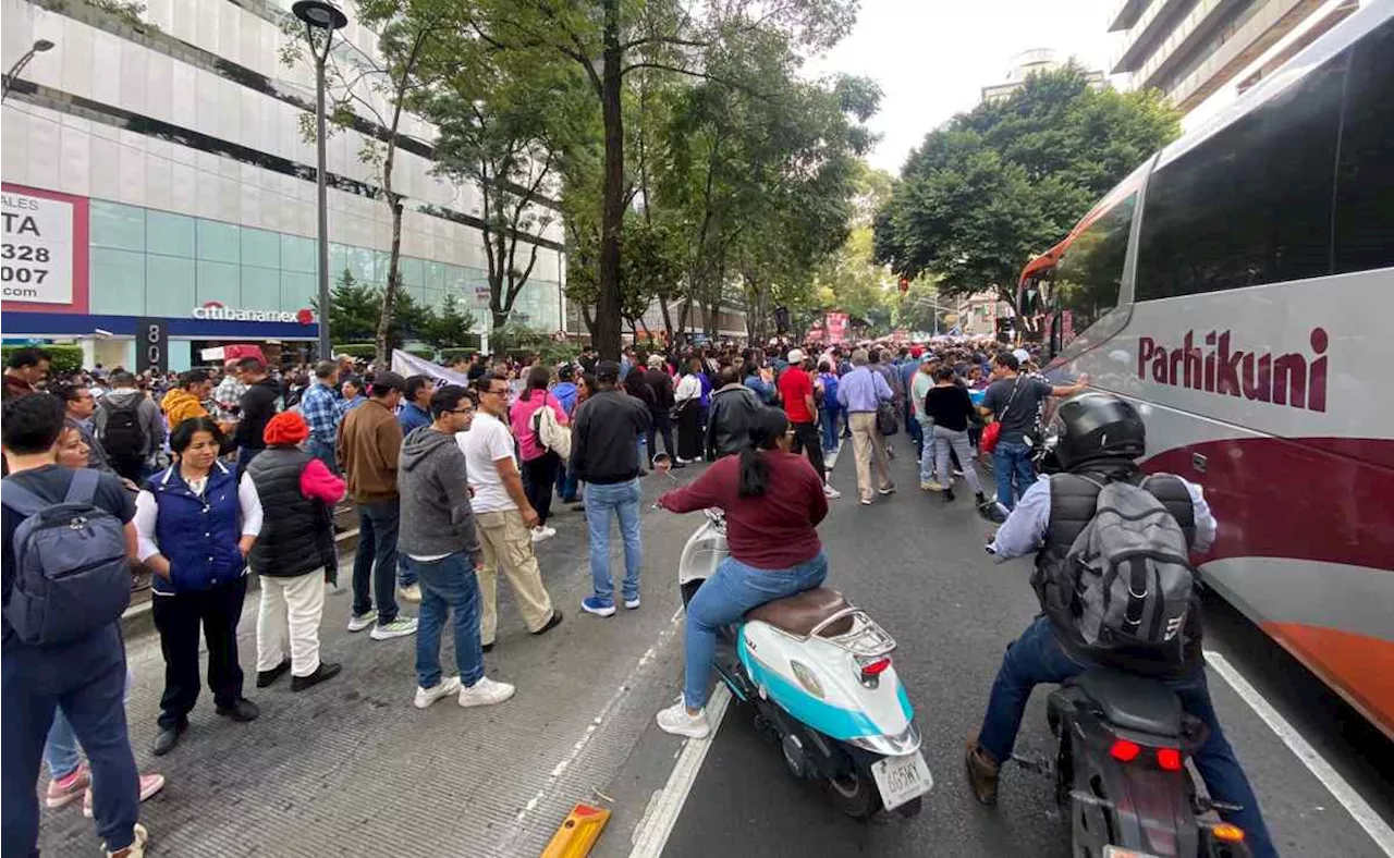
[[[969, 795], [963, 774], [963, 745], [981, 720], [1002, 650], [1037, 613], [1027, 561], [993, 564], [981, 547], [986, 526], [965, 492], [945, 507], [938, 496], [919, 490], [905, 453], [892, 468], [901, 490], [860, 507], [849, 451], [832, 478], [845, 499], [820, 532], [832, 560], [829, 585], [899, 642], [895, 666], [916, 706], [935, 780], [923, 813], [870, 825], [839, 816], [815, 784], [789, 776], [778, 747], [754, 730], [744, 706], [733, 703], [710, 740], [665, 858], [1068, 854], [1066, 826], [1047, 779], [1011, 769], [998, 806], [983, 808]], [[1383, 734], [1228, 606], [1207, 607], [1207, 628], [1209, 649], [1221, 652], [1384, 819], [1394, 819], [1394, 795], [1381, 776], [1394, 772], [1388, 765], [1394, 754]], [[665, 701], [680, 687], [676, 655], [668, 655], [668, 694], [658, 695]], [[1210, 687], [1284, 855], [1384, 854], [1213, 671]], [[1044, 698], [1040, 691], [1033, 695], [1018, 754], [1048, 756]], [[630, 854], [636, 832], [651, 825], [647, 816], [659, 804], [682, 747], [652, 726], [645, 731], [608, 787], [616, 815], [597, 854]]]

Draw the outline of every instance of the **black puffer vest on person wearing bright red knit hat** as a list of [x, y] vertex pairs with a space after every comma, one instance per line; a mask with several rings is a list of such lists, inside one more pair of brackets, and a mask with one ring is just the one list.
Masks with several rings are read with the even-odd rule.
[[329, 508], [300, 493], [300, 474], [309, 460], [296, 447], [269, 447], [247, 465], [265, 513], [251, 553], [258, 575], [293, 578], [335, 566]]

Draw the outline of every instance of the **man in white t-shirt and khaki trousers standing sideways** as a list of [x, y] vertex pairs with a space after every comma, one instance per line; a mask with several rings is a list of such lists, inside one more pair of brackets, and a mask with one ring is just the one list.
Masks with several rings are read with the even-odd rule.
[[464, 451], [470, 490], [474, 493], [470, 507], [484, 545], [484, 568], [478, 575], [484, 596], [480, 642], [484, 652], [489, 652], [499, 621], [500, 564], [528, 631], [539, 635], [556, 628], [562, 623], [562, 611], [552, 607], [533, 553], [531, 528], [538, 518], [523, 492], [523, 478], [513, 458], [513, 433], [507, 423], [509, 380], [503, 375], [485, 373], [478, 380], [478, 391], [480, 410], [474, 423], [468, 432], [454, 437]]

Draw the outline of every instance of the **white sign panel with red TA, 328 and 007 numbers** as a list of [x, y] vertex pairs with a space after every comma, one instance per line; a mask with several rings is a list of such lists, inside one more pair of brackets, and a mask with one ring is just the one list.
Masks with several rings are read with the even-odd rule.
[[72, 304], [72, 203], [0, 189], [0, 298]]

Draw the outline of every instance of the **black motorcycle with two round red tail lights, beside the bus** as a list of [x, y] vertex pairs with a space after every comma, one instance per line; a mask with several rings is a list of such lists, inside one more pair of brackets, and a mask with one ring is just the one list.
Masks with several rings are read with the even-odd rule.
[[1239, 808], [1196, 793], [1186, 760], [1209, 730], [1163, 682], [1092, 669], [1051, 692], [1046, 717], [1058, 740], [1054, 765], [1015, 759], [1054, 776], [1072, 855], [1250, 855], [1242, 829], [1207, 819]]

